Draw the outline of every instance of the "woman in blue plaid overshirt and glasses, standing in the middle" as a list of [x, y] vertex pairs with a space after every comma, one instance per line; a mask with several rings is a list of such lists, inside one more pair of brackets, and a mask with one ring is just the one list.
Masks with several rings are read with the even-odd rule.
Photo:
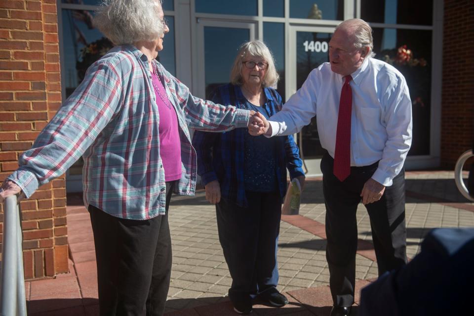
[[[231, 82], [212, 100], [254, 110], [267, 119], [282, 106], [275, 89], [278, 74], [268, 47], [261, 41], [243, 44], [234, 61]], [[239, 314], [252, 311], [258, 297], [272, 306], [288, 303], [276, 290], [276, 250], [286, 169], [303, 185], [304, 172], [292, 136], [267, 138], [239, 130], [196, 132], [197, 174], [206, 199], [216, 204], [219, 240], [232, 276], [229, 298]]]

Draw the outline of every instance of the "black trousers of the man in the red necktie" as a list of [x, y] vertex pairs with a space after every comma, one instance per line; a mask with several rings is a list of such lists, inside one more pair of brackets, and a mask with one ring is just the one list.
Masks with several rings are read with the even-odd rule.
[[[329, 286], [335, 305], [354, 304], [357, 251], [357, 205], [364, 183], [378, 163], [351, 167], [343, 182], [333, 174], [334, 159], [326, 153], [321, 160], [326, 204], [326, 259]], [[385, 188], [382, 198], [367, 204], [379, 276], [406, 264], [405, 174], [402, 170]]]

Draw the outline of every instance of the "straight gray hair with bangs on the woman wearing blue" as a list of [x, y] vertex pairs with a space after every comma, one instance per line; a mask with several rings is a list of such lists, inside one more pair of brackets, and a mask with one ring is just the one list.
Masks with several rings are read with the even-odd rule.
[[232, 66], [231, 83], [238, 86], [243, 84], [240, 72], [242, 71], [242, 62], [248, 56], [261, 57], [268, 62], [267, 72], [263, 79], [263, 87], [274, 87], [279, 79], [275, 68], [275, 60], [270, 49], [260, 40], [246, 42], [240, 46]]

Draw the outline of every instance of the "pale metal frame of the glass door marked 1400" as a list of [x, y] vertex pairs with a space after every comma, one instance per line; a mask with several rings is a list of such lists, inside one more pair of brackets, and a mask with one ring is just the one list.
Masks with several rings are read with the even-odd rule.
[[[314, 25], [302, 25], [302, 24], [290, 24], [288, 27], [288, 58], [285, 61], [285, 68], [288, 70], [285, 74], [285, 95], [286, 100], [293, 95], [296, 90], [296, 58], [297, 58], [297, 45], [296, 33], [297, 32], [317, 32], [317, 33], [334, 33], [333, 26], [314, 26]], [[295, 141], [301, 137], [301, 133], [294, 135]], [[300, 156], [304, 162], [304, 170], [306, 177], [319, 177], [322, 176], [320, 164], [321, 159], [304, 159], [304, 152], [302, 148], [302, 142], [299, 144]]]

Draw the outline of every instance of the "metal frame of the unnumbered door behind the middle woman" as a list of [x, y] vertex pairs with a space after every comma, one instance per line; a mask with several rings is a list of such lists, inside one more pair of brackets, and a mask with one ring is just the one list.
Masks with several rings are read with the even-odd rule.
[[204, 59], [204, 27], [222, 27], [235, 29], [248, 29], [250, 41], [255, 40], [257, 34], [256, 22], [236, 22], [221, 19], [197, 18], [196, 20], [196, 36], [197, 36], [197, 76], [195, 82], [196, 95], [205, 98], [206, 90], [206, 74], [205, 74], [205, 59]]

